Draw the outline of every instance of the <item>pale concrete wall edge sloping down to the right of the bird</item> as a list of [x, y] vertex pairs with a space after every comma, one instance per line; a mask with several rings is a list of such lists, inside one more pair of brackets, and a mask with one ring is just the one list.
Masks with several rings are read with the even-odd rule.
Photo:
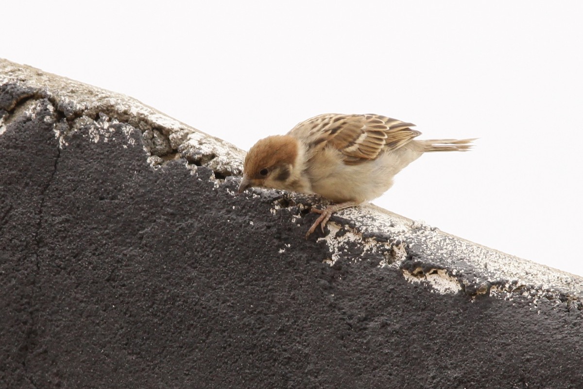
[[375, 205], [346, 209], [340, 217], [359, 226], [363, 240], [389, 236], [407, 243], [408, 255], [391, 266], [405, 278], [426, 282], [441, 293], [464, 292], [469, 296], [498, 296], [577, 302], [583, 309], [583, 278], [524, 260], [442, 232]]

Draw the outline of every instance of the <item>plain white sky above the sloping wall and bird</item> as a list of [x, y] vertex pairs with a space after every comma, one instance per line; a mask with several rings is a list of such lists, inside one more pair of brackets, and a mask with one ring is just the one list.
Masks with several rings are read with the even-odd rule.
[[10, 1], [0, 57], [248, 149], [320, 113], [413, 122], [431, 153], [373, 201], [583, 275], [583, 1]]

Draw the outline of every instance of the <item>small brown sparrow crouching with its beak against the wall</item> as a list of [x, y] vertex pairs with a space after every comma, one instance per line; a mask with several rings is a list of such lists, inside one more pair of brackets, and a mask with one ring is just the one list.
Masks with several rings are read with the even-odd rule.
[[319, 194], [337, 203], [312, 208], [324, 226], [333, 212], [377, 198], [424, 152], [467, 151], [474, 139], [414, 140], [414, 124], [381, 115], [323, 114], [286, 135], [260, 139], [245, 157], [239, 193], [250, 187]]

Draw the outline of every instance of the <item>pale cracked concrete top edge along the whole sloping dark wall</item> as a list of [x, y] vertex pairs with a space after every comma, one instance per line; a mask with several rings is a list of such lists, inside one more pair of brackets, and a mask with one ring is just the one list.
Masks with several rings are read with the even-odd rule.
[[[0, 86], [16, 85], [20, 94], [0, 115], [0, 135], [16, 110], [30, 110], [34, 99], [48, 99], [62, 119], [55, 124], [59, 145], [66, 147], [66, 136], [78, 131], [89, 141], [107, 142], [114, 131], [127, 126], [127, 132], [142, 132], [152, 166], [183, 158], [189, 166], [206, 166], [215, 173], [215, 188], [231, 195], [231, 182], [242, 172], [244, 152], [222, 139], [207, 135], [124, 94], [110, 92], [51, 75], [27, 65], [0, 59]], [[27, 100], [30, 103], [27, 103]], [[2, 107], [0, 107], [2, 109]], [[60, 126], [60, 127], [59, 127]], [[123, 128], [123, 126], [122, 126]], [[128, 139], [129, 136], [128, 136]], [[212, 177], [214, 178], [214, 177]], [[308, 212], [317, 197], [282, 191], [253, 190], [247, 197], [273, 199], [272, 213], [286, 210], [292, 223]], [[304, 204], [305, 203], [305, 204]], [[375, 205], [340, 211], [328, 225], [324, 241], [330, 251], [324, 261], [358, 262], [366, 257], [381, 258], [380, 267], [402, 271], [409, 282], [423, 283], [437, 293], [466, 293], [512, 299], [517, 295], [571, 304], [583, 309], [583, 278], [523, 260], [500, 251], [441, 232], [435, 227], [404, 218]]]

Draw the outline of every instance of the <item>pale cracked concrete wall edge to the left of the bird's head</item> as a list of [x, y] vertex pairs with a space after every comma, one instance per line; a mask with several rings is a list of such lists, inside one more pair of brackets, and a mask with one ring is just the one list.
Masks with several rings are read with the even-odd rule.
[[[222, 139], [205, 134], [125, 94], [111, 92], [62, 76], [53, 75], [0, 58], [0, 85], [18, 86], [13, 101], [3, 101], [5, 111], [12, 113], [23, 100], [50, 100], [62, 116], [63, 126], [55, 132], [61, 146], [66, 135], [87, 129], [86, 136], [94, 142], [107, 141], [112, 136], [107, 122], [124, 123], [142, 132], [148, 162], [157, 166], [168, 160], [183, 158], [190, 166], [207, 166], [218, 178], [240, 175], [245, 152]], [[9, 119], [2, 115], [0, 135]], [[85, 134], [83, 134], [85, 136]]]

